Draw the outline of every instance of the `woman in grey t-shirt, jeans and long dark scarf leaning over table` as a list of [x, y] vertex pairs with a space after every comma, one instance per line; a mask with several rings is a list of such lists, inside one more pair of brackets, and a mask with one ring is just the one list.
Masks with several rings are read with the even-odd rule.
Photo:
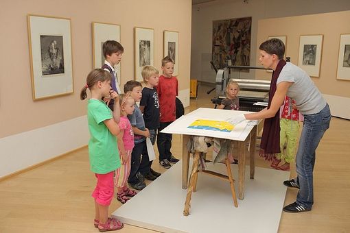
[[261, 139], [262, 155], [271, 160], [279, 149], [279, 108], [285, 95], [296, 101], [296, 107], [304, 115], [303, 131], [296, 154], [296, 180], [286, 180], [285, 186], [299, 188], [296, 201], [285, 212], [310, 211], [314, 204], [313, 177], [316, 148], [329, 128], [331, 113], [325, 99], [305, 71], [283, 60], [285, 51], [281, 40], [266, 40], [259, 47], [259, 62], [273, 69], [268, 108], [260, 112], [240, 114], [228, 119], [233, 125], [245, 120], [266, 119]]

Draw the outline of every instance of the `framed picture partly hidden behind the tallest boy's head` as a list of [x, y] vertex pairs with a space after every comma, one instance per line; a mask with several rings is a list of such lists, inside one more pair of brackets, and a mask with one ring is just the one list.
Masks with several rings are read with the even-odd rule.
[[[93, 68], [101, 68], [104, 65], [102, 45], [106, 40], [115, 40], [120, 43], [120, 25], [114, 23], [93, 22]], [[115, 65], [118, 77], [121, 77], [120, 63]]]

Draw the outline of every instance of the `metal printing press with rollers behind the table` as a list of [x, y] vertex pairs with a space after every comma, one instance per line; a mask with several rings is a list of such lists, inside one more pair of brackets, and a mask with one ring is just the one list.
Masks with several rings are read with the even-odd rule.
[[[240, 86], [240, 91], [238, 92], [238, 97], [240, 98], [240, 110], [258, 112], [266, 106], [254, 105], [257, 102], [268, 103], [268, 92], [270, 90], [270, 80], [258, 80], [258, 79], [240, 79], [231, 77], [231, 71], [250, 69], [265, 69], [262, 66], [227, 66], [224, 69], [216, 70], [215, 78], [215, 98], [211, 101], [216, 106], [220, 105], [221, 101], [226, 98], [226, 85], [229, 80], [237, 82]], [[207, 93], [210, 93], [207, 92]]]

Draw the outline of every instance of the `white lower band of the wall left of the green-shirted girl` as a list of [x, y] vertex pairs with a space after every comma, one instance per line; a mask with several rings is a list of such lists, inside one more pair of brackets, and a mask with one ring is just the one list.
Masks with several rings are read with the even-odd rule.
[[87, 145], [86, 115], [0, 138], [0, 177]]

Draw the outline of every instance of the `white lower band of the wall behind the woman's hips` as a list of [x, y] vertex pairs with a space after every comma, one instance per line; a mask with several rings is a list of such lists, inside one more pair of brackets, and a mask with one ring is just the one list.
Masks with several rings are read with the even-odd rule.
[[350, 98], [324, 94], [323, 97], [329, 104], [332, 116], [350, 120]]

